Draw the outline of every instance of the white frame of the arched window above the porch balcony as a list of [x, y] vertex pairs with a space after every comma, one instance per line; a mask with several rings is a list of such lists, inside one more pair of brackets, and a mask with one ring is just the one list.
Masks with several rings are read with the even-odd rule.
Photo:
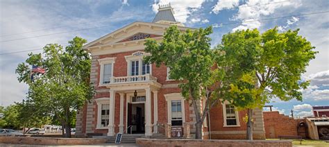
[[[142, 75], [143, 58], [146, 55], [151, 55], [151, 54], [144, 53], [143, 51], [137, 51], [135, 53], [132, 53], [132, 55], [124, 56], [127, 62], [127, 76], [131, 76], [131, 62], [135, 60], [138, 60], [138, 75]], [[150, 64], [150, 75], [152, 75], [152, 64]]]

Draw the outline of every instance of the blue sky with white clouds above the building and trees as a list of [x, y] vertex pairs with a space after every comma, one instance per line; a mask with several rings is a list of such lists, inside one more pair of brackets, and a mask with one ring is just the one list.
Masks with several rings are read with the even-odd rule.
[[[2, 0], [0, 54], [41, 49], [49, 43], [65, 46], [74, 36], [91, 42], [133, 21], [152, 21], [158, 4], [169, 2], [176, 19], [185, 26], [214, 27], [212, 46], [221, 42], [223, 34], [237, 29], [258, 28], [263, 32], [274, 26], [280, 31], [301, 28], [300, 35], [319, 51], [303, 74], [303, 79], [312, 81], [311, 85], [301, 90], [303, 102], [273, 99], [269, 104], [285, 114], [294, 110], [295, 116], [312, 115], [311, 105], [329, 105], [329, 1], [326, 0]], [[0, 55], [2, 105], [25, 98], [27, 86], [18, 83], [15, 68], [26, 60], [29, 52]], [[40, 53], [40, 50], [32, 52]]]

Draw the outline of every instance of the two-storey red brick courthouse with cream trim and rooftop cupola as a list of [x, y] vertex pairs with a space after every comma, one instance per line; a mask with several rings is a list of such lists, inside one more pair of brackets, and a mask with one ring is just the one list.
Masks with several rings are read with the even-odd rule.
[[[152, 22], [136, 21], [84, 46], [92, 55], [90, 80], [94, 98], [78, 111], [77, 136], [142, 134], [161, 137], [194, 137], [194, 108], [180, 94], [178, 81], [168, 77], [167, 67], [145, 64], [144, 39], [161, 41], [171, 25], [187, 28], [174, 18], [170, 5], [160, 6]], [[204, 107], [203, 101], [199, 103]], [[203, 123], [203, 138], [245, 139], [246, 111], [229, 103], [210, 110]], [[254, 138], [264, 139], [262, 110], [253, 114]], [[178, 130], [177, 130], [178, 129]], [[173, 130], [177, 130], [173, 134]], [[178, 133], [179, 132], [179, 133]]]

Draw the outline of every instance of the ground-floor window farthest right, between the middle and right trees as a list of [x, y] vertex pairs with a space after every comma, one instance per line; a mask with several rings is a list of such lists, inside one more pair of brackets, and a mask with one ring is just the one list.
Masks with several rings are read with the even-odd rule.
[[239, 114], [233, 105], [223, 104], [224, 127], [239, 126]]

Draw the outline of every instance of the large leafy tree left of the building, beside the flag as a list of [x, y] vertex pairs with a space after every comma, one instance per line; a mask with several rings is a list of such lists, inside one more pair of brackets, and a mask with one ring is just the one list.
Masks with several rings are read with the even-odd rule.
[[[47, 44], [43, 54], [28, 54], [26, 62], [16, 69], [19, 82], [29, 86], [30, 105], [45, 110], [44, 114], [51, 118], [56, 116], [65, 128], [65, 137], [71, 137], [75, 111], [94, 95], [89, 83], [90, 55], [82, 49], [86, 42], [74, 37], [65, 49], [58, 44]], [[32, 72], [32, 65], [42, 67], [46, 72]]]

